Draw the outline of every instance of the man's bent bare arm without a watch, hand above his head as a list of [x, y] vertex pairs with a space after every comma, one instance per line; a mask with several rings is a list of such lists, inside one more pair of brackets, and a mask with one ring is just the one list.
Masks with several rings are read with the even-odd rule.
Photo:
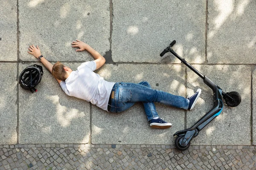
[[96, 62], [96, 70], [105, 64], [105, 58], [93, 48], [91, 48], [90, 45], [79, 40], [73, 41], [71, 44], [73, 44], [72, 47], [79, 47], [79, 49], [77, 49], [76, 51], [87, 50], [93, 56], [93, 58], [95, 59], [94, 61]]

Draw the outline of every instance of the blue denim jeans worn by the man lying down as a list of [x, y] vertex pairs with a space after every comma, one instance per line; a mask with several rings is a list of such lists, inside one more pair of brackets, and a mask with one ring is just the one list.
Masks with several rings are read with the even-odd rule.
[[118, 82], [113, 86], [113, 99], [111, 98], [110, 112], [119, 113], [127, 110], [135, 102], [143, 102], [148, 121], [158, 117], [153, 102], [163, 103], [175, 108], [188, 109], [189, 100], [182, 96], [175, 96], [164, 91], [151, 88], [148, 82], [127, 83]]

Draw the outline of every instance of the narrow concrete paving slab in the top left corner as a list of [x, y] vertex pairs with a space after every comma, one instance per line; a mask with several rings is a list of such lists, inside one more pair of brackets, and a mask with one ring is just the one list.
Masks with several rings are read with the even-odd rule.
[[0, 61], [17, 61], [17, 0], [0, 4]]

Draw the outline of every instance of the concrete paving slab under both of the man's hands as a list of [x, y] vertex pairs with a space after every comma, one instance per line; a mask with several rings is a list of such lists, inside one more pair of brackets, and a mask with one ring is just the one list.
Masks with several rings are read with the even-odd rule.
[[39, 45], [50, 61], [84, 61], [90, 54], [76, 52], [71, 42], [88, 43], [102, 55], [110, 49], [109, 1], [19, 0], [20, 59], [33, 61], [29, 45]]

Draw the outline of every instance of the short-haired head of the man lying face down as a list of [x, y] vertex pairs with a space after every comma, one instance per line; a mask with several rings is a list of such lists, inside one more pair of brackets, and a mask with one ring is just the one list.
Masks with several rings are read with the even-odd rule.
[[65, 81], [71, 72], [72, 70], [61, 62], [56, 62], [52, 67], [52, 76], [62, 81]]

